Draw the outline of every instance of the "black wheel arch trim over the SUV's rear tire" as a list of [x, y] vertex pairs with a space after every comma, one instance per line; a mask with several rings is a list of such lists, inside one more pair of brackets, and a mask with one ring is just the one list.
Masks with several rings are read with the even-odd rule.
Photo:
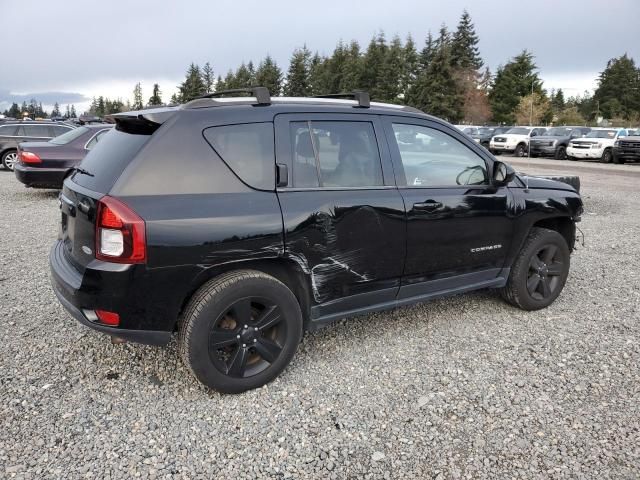
[[[302, 268], [295, 261], [288, 258], [256, 259], [237, 261], [216, 265], [202, 271], [191, 283], [182, 300], [178, 318], [180, 318], [193, 295], [208, 281], [228, 272], [237, 270], [256, 270], [274, 277], [284, 283], [291, 290], [300, 304], [303, 327], [307, 328], [311, 311], [311, 281]], [[174, 329], [177, 328], [176, 321]]]

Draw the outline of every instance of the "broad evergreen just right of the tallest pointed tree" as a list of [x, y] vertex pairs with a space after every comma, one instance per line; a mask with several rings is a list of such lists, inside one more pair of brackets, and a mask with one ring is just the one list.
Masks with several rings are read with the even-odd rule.
[[499, 123], [515, 123], [514, 111], [522, 97], [534, 93], [542, 94], [542, 81], [536, 72], [533, 55], [524, 50], [503, 67], [498, 67], [489, 102], [493, 120]]

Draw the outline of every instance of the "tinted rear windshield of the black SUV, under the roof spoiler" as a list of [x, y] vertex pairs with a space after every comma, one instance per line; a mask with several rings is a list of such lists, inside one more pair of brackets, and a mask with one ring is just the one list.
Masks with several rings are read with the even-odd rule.
[[80, 163], [80, 167], [93, 176], [75, 172], [73, 181], [89, 190], [108, 193], [125, 167], [150, 138], [151, 135], [134, 135], [112, 129], [100, 138], [100, 142]]

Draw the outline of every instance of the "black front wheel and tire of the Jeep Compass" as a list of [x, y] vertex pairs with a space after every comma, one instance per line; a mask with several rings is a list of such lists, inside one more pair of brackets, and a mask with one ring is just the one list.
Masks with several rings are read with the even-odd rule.
[[532, 228], [511, 268], [507, 285], [500, 290], [502, 298], [523, 310], [548, 307], [564, 288], [570, 259], [562, 235], [546, 228]]

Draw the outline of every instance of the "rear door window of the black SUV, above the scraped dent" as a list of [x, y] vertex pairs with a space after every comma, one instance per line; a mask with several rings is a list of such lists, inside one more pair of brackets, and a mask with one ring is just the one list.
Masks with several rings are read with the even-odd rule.
[[369, 122], [290, 125], [294, 187], [382, 186], [382, 165]]

